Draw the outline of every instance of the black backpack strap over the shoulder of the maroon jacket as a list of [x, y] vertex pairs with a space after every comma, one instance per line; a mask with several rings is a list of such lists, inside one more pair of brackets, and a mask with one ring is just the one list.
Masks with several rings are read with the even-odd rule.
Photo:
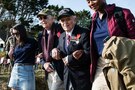
[[127, 25], [126, 25], [126, 21], [125, 21], [125, 18], [124, 18], [124, 13], [123, 13], [121, 7], [115, 7], [114, 17], [115, 17], [115, 19], [116, 19], [116, 21], [118, 23], [119, 28], [123, 32], [124, 36], [128, 37]]

